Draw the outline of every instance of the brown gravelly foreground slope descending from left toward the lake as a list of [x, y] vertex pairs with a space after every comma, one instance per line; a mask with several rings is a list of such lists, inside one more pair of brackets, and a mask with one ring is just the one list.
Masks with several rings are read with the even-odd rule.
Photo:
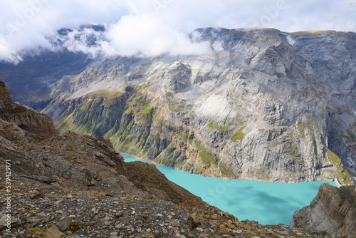
[[[26, 108], [18, 114], [0, 85], [0, 115], [11, 110], [26, 121], [28, 113], [30, 128], [53, 123]], [[283, 224], [240, 222], [169, 182], [155, 165], [123, 162], [108, 139], [43, 135], [45, 126], [27, 133], [0, 119], [0, 170], [11, 172], [11, 187], [0, 181], [1, 237], [318, 237]]]

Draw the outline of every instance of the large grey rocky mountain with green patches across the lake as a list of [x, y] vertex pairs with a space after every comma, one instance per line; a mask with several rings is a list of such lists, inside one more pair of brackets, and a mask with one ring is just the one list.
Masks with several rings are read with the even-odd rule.
[[[2, 64], [1, 76], [14, 98], [52, 115], [60, 132], [110, 138], [117, 150], [162, 165], [216, 177], [352, 184], [356, 33], [205, 28], [189, 37], [209, 42], [211, 53], [83, 61], [63, 51], [53, 56], [68, 64], [46, 58], [48, 72], [65, 66], [58, 74], [33, 73], [28, 68], [43, 53]], [[33, 83], [43, 90], [21, 93]]]

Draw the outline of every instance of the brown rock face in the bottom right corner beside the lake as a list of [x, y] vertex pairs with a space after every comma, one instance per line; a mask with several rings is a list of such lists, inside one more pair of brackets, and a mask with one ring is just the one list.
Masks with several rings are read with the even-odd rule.
[[356, 237], [356, 190], [354, 186], [320, 186], [308, 207], [293, 214], [291, 225], [313, 229], [332, 237]]

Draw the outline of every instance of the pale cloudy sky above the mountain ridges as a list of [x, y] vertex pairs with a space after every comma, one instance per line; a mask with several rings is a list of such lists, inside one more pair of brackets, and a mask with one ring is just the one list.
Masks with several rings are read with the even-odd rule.
[[[61, 48], [91, 57], [201, 54], [207, 44], [190, 41], [187, 33], [208, 26], [356, 31], [356, 0], [0, 0], [0, 9], [0, 61], [7, 63]], [[58, 29], [83, 24], [103, 24], [107, 31], [58, 36]], [[63, 45], [53, 45], [53, 38]]]

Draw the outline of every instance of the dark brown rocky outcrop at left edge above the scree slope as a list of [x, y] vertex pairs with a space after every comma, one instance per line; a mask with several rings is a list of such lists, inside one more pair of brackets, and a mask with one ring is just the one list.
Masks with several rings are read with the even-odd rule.
[[0, 81], [0, 119], [15, 123], [32, 140], [41, 141], [57, 135], [50, 116], [14, 103], [2, 81]]

